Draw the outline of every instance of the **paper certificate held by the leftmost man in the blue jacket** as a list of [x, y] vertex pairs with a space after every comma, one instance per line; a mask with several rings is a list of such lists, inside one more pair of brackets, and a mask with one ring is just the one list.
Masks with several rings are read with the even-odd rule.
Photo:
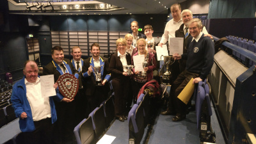
[[51, 97], [56, 95], [54, 84], [54, 75], [40, 76], [42, 97]]

